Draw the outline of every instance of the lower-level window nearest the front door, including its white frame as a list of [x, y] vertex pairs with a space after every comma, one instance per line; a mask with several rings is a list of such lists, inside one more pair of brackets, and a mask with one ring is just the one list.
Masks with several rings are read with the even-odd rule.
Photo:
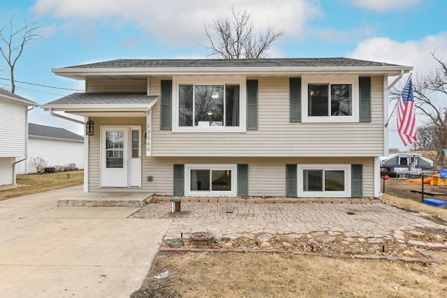
[[185, 165], [185, 195], [235, 196], [237, 165]]

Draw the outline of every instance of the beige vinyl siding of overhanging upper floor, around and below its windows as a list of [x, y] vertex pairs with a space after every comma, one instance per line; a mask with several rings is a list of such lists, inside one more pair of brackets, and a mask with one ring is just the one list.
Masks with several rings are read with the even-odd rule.
[[[153, 156], [381, 156], [383, 78], [372, 77], [370, 123], [303, 124], [289, 121], [288, 77], [258, 80], [258, 130], [247, 133], [172, 133], [160, 130], [160, 103], [152, 108]], [[328, 77], [330, 81], [330, 77]], [[151, 78], [151, 95], [160, 80]]]

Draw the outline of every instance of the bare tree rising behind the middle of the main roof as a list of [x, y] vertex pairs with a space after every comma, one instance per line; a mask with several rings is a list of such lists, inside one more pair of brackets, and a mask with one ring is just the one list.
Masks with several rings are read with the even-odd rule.
[[203, 47], [219, 59], [259, 59], [267, 56], [270, 45], [283, 33], [268, 24], [265, 31], [256, 34], [250, 13], [233, 7], [230, 17], [217, 17], [212, 24], [205, 24], [210, 46]]

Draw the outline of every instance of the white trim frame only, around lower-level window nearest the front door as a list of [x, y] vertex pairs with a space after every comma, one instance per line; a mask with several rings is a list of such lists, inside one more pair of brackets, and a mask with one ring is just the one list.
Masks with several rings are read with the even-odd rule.
[[[191, 191], [191, 170], [230, 170], [231, 191]], [[236, 197], [237, 164], [189, 163], [184, 165], [184, 195], [190, 197]]]

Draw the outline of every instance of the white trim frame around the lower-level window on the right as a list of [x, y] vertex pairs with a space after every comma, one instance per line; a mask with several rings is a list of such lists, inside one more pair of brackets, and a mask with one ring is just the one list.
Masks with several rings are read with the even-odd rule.
[[[312, 164], [297, 165], [298, 197], [301, 198], [351, 198], [350, 164]], [[303, 170], [344, 170], [344, 191], [304, 191]]]

